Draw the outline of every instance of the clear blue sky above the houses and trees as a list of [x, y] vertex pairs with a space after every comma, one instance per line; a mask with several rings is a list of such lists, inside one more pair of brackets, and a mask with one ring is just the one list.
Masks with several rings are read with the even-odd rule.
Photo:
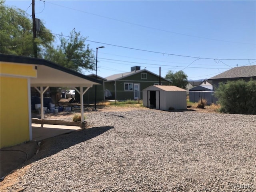
[[[31, 2], [5, 4], [31, 15]], [[35, 12], [54, 34], [68, 36], [76, 28], [87, 40], [100, 42], [86, 41], [95, 56], [96, 47], [105, 46], [98, 49], [102, 77], [141, 66], [156, 74], [161, 67], [162, 76], [183, 70], [197, 80], [256, 64], [256, 1], [35, 0]]]

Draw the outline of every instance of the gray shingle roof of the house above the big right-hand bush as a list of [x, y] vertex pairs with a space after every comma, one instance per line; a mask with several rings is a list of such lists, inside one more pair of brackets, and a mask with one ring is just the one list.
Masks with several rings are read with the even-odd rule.
[[256, 65], [235, 67], [220, 73], [208, 80], [212, 79], [226, 79], [226, 78], [243, 78], [243, 77], [256, 77]]

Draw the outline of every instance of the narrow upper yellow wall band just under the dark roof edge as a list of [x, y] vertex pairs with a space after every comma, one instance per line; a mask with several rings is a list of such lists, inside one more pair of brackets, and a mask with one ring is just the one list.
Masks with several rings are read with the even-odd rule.
[[36, 77], [37, 74], [34, 65], [11, 62], [1, 62], [0, 71], [1, 74], [24, 77]]

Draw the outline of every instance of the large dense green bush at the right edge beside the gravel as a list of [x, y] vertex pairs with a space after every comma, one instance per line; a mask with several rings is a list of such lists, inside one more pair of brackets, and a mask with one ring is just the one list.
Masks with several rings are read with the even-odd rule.
[[215, 93], [220, 112], [232, 114], [256, 114], [256, 81], [244, 80], [220, 83]]

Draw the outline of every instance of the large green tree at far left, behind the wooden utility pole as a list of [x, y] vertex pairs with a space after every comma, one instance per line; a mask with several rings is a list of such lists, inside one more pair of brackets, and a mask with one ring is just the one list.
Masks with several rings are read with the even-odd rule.
[[[34, 56], [32, 20], [21, 9], [8, 7], [0, 1], [0, 46], [1, 53], [21, 56]], [[38, 57], [42, 57], [50, 47], [54, 36], [41, 22], [41, 31], [37, 32]]]

